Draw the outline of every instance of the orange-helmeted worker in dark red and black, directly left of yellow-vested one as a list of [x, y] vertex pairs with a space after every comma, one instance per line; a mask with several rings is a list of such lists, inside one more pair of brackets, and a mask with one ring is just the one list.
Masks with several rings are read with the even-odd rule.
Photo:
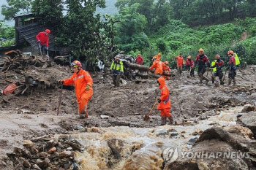
[[203, 49], [202, 48], [200, 48], [198, 50], [198, 54], [199, 55], [197, 55], [197, 58], [195, 58], [195, 66], [196, 66], [196, 64], [198, 62], [197, 74], [198, 74], [199, 80], [200, 80], [199, 83], [203, 83], [203, 80], [206, 80], [206, 85], [207, 85], [209, 80], [206, 77], [204, 77], [203, 74], [206, 72], [206, 64], [207, 64], [208, 68], [211, 67], [210, 66], [210, 62], [208, 60], [207, 55], [205, 55], [203, 53]]

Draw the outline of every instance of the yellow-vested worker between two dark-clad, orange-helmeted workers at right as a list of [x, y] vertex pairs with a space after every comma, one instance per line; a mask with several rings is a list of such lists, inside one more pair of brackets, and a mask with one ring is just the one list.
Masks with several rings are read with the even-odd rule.
[[[224, 66], [224, 62], [222, 61], [222, 59], [220, 59], [220, 55], [217, 54], [215, 56], [215, 62], [212, 63], [211, 68], [214, 68], [215, 72], [214, 72], [214, 77], [219, 77], [219, 81], [221, 85], [224, 85], [224, 82], [222, 81], [222, 77], [223, 77], [223, 70], [222, 67]], [[213, 83], [214, 83], [214, 77], [213, 77]]]

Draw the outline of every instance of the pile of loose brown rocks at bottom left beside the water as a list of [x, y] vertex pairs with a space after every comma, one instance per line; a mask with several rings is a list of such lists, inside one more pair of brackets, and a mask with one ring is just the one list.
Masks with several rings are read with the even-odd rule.
[[83, 150], [82, 144], [67, 135], [25, 140], [23, 146], [7, 154], [15, 169], [76, 169], [74, 151]]

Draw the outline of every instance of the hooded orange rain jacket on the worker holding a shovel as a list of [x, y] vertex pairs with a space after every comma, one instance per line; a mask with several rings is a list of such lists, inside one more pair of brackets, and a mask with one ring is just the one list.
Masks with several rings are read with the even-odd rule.
[[157, 80], [160, 83], [159, 88], [161, 90], [161, 102], [158, 104], [157, 109], [170, 109], [170, 94], [167, 85], [165, 85], [165, 79], [160, 77]]

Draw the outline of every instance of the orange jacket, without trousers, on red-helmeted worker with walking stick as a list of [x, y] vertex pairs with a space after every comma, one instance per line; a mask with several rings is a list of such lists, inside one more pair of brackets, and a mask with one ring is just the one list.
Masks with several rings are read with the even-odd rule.
[[[92, 96], [93, 90], [91, 86], [93, 84], [93, 80], [91, 79], [89, 72], [86, 72], [83, 69], [80, 69], [78, 73], [73, 73], [72, 77], [64, 80], [63, 84], [75, 85], [75, 95], [77, 96], [78, 102], [84, 93], [89, 93]], [[90, 90], [86, 91], [86, 85], [90, 85]]]

